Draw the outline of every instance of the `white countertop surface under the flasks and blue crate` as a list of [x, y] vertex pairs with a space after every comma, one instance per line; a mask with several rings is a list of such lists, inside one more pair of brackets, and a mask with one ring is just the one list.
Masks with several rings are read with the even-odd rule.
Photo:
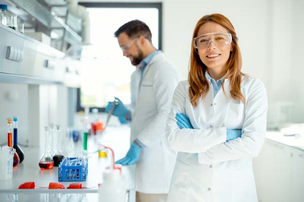
[[[98, 184], [102, 183], [102, 173], [104, 169], [109, 166], [110, 163], [110, 158], [99, 158], [97, 153], [92, 154], [98, 149], [98, 142], [103, 145], [109, 146], [114, 150], [115, 160], [123, 158], [126, 155], [130, 146], [130, 127], [127, 125], [119, 127], [108, 126], [106, 131], [101, 136], [89, 136], [89, 162], [87, 181], [74, 181], [81, 182], [83, 187], [89, 187], [89, 189], [65, 189], [57, 191], [65, 191], [65, 193], [97, 193]], [[25, 193], [26, 191], [30, 191], [31, 193], [39, 193], [41, 191], [48, 190], [50, 191], [49, 193], [52, 193], [52, 191], [56, 192], [56, 190], [50, 189], [18, 189], [18, 186], [21, 183], [28, 181], [34, 181], [36, 187], [48, 187], [50, 182], [58, 182], [58, 167], [54, 167], [51, 170], [41, 170], [38, 165], [39, 160], [44, 153], [43, 148], [29, 147], [23, 148], [23, 151], [25, 154], [24, 161], [17, 167], [13, 168], [13, 179], [0, 181], [0, 193]], [[125, 176], [126, 179], [126, 189], [132, 190], [131, 193], [135, 194], [135, 165], [122, 167], [122, 174]], [[66, 188], [69, 184], [73, 182], [60, 181], [60, 183], [62, 183]]]

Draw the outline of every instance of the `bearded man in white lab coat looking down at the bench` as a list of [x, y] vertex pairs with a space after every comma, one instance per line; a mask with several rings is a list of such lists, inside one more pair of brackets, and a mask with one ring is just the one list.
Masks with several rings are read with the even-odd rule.
[[[136, 163], [136, 201], [166, 201], [176, 154], [168, 147], [165, 129], [177, 71], [153, 46], [145, 23], [132, 20], [121, 26], [115, 37], [123, 56], [136, 66], [131, 76], [134, 110], [128, 110], [119, 100], [113, 112], [121, 122], [131, 121], [131, 147], [116, 163]], [[109, 102], [106, 112], [111, 106]]]

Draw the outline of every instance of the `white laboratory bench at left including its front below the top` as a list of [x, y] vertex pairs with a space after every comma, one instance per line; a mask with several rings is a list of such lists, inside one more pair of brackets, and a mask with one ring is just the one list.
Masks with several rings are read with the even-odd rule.
[[[102, 173], [110, 165], [111, 158], [99, 158], [96, 152], [101, 147], [98, 143], [109, 146], [115, 153], [115, 160], [123, 158], [130, 146], [129, 126], [108, 126], [101, 135], [88, 137], [88, 175], [86, 181], [58, 181], [58, 167], [41, 170], [39, 161], [44, 154], [44, 146], [22, 148], [24, 161], [13, 168], [11, 180], [0, 181], [0, 201], [98, 201], [98, 184], [102, 184]], [[82, 142], [77, 146], [81, 147]], [[64, 146], [64, 145], [62, 145]], [[76, 147], [77, 147], [76, 146]], [[79, 157], [82, 149], [75, 150], [73, 155]], [[73, 157], [70, 155], [70, 157]], [[122, 174], [126, 180], [126, 201], [135, 201], [135, 165], [123, 166]], [[35, 182], [35, 187], [48, 187], [50, 182], [59, 182], [65, 189], [18, 189], [24, 182]], [[66, 189], [74, 182], [81, 182], [83, 189]], [[71, 200], [72, 198], [72, 200]]]

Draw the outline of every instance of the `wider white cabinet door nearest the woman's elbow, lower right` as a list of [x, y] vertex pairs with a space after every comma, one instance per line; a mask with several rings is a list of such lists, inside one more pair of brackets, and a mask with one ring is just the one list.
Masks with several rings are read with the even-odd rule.
[[291, 151], [290, 147], [266, 139], [254, 162], [259, 202], [290, 201]]

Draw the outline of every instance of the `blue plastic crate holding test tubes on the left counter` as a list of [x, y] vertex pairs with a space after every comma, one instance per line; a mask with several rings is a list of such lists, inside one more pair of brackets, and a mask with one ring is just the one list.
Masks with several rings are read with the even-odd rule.
[[87, 158], [64, 158], [58, 167], [58, 181], [86, 181]]

